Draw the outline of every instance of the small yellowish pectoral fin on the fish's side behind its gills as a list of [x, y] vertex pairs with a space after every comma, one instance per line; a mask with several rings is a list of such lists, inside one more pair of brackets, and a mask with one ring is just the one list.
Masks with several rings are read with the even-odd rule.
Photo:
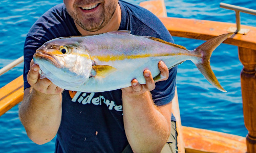
[[105, 78], [110, 73], [117, 70], [115, 67], [112, 67], [112, 66], [109, 66], [109, 65], [93, 65], [92, 68], [96, 72], [95, 76], [101, 77], [101, 78]]

